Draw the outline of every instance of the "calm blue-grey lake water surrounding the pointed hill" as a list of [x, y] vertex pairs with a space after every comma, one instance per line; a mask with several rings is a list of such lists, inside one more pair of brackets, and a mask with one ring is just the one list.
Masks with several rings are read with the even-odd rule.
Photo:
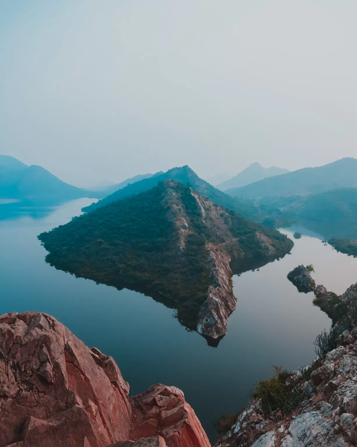
[[[84, 343], [111, 355], [130, 383], [130, 394], [155, 383], [185, 393], [211, 441], [212, 422], [245, 406], [250, 388], [273, 375], [272, 365], [294, 370], [315, 357], [313, 341], [331, 320], [286, 274], [315, 267], [316, 284], [338, 294], [357, 281], [357, 259], [323, 245], [304, 228], [281, 230], [294, 240], [290, 255], [233, 277], [238, 299], [227, 336], [217, 348], [185, 330], [172, 309], [140, 293], [97, 285], [46, 264], [37, 235], [79, 215], [90, 199], [41, 210], [22, 208], [0, 221], [0, 314], [40, 311], [55, 316]], [[3, 206], [0, 204], [0, 207]], [[1, 211], [1, 209], [0, 209]]]

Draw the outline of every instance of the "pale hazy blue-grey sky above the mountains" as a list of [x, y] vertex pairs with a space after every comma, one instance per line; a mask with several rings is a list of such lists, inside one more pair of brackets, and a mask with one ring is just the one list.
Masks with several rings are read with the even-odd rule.
[[356, 0], [0, 0], [0, 153], [77, 186], [357, 157]]

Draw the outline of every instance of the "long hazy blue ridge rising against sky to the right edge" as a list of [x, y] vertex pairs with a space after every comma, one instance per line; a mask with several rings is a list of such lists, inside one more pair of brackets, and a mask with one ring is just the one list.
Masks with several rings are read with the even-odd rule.
[[317, 168], [304, 168], [284, 175], [265, 178], [251, 185], [226, 191], [233, 197], [318, 194], [337, 188], [357, 188], [357, 159], [342, 158]]

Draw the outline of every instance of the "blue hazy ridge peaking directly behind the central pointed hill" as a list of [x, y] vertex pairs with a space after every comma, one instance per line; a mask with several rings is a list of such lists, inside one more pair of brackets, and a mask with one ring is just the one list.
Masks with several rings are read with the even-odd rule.
[[90, 212], [97, 210], [100, 207], [108, 205], [111, 202], [122, 200], [123, 198], [139, 194], [143, 191], [147, 191], [157, 185], [158, 181], [164, 181], [167, 178], [171, 178], [175, 181], [180, 181], [184, 185], [189, 185], [196, 191], [198, 191], [204, 197], [209, 198], [214, 203], [223, 207], [229, 208], [237, 213], [248, 217], [249, 219], [256, 219], [259, 217], [259, 211], [249, 202], [244, 202], [236, 198], [223, 193], [222, 191], [214, 188], [202, 178], [198, 177], [189, 166], [183, 166], [181, 168], [173, 168], [165, 173], [157, 173], [155, 176], [145, 178], [143, 180], [132, 183], [121, 190], [105, 197], [97, 203], [92, 203], [89, 207], [83, 208], [82, 211]]

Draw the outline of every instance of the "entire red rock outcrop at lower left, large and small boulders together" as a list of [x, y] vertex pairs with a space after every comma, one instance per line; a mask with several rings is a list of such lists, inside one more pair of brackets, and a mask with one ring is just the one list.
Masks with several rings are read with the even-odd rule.
[[210, 446], [178, 388], [128, 394], [113, 358], [54, 317], [0, 316], [0, 447]]

